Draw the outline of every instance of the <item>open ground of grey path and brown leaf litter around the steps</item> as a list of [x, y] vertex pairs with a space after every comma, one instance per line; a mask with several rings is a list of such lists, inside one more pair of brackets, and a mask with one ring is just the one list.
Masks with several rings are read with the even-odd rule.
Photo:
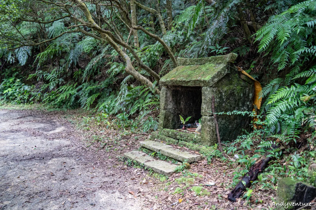
[[[106, 129], [87, 117], [0, 109], [0, 209], [273, 209], [275, 191], [259, 186], [250, 201], [228, 201], [238, 163], [204, 158], [167, 179], [127, 167], [123, 154], [137, 150], [148, 133]], [[190, 177], [192, 183], [177, 181]], [[209, 193], [196, 195], [193, 186]]]

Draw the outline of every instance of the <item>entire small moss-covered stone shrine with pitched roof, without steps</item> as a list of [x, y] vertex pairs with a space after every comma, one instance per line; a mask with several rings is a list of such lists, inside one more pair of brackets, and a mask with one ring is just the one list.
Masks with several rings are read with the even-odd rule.
[[[159, 129], [179, 128], [179, 115], [191, 116], [187, 123], [202, 119], [202, 135], [191, 138], [176, 131], [161, 134], [203, 145], [216, 143], [213, 95], [217, 113], [252, 110], [253, 85], [232, 63], [236, 57], [237, 54], [231, 53], [209, 58], [178, 58], [179, 66], [160, 80], [164, 88], [161, 90]], [[249, 127], [250, 120], [242, 115], [217, 115], [221, 139], [235, 139], [242, 129]]]

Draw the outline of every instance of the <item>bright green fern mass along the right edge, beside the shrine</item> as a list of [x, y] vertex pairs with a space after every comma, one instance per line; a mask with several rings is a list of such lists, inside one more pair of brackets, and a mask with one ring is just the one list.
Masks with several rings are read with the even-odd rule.
[[271, 16], [256, 34], [259, 52], [271, 55], [278, 71], [289, 69], [285, 79], [262, 89], [265, 125], [285, 143], [296, 141], [303, 129], [316, 130], [315, 26], [316, 2], [308, 0]]

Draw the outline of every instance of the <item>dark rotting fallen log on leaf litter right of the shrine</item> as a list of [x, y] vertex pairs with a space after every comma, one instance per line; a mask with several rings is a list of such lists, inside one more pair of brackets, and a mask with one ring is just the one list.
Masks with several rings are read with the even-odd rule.
[[[272, 145], [271, 148], [276, 149], [278, 145]], [[244, 194], [244, 191], [247, 187], [251, 186], [251, 183], [258, 178], [259, 173], [262, 173], [264, 168], [270, 162], [272, 157], [266, 157], [270, 151], [266, 151], [264, 155], [253, 164], [249, 172], [240, 180], [240, 182], [235, 186], [235, 188], [228, 194], [228, 200], [235, 202], [236, 198], [241, 197]], [[245, 182], [246, 184], [243, 184]]]

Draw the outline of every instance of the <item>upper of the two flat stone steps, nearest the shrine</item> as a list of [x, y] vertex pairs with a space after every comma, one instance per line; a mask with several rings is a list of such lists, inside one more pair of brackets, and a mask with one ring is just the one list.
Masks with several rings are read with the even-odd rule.
[[155, 152], [160, 152], [162, 155], [171, 157], [173, 159], [179, 160], [184, 162], [186, 160], [187, 162], [196, 162], [201, 159], [200, 155], [197, 154], [191, 154], [188, 151], [179, 150], [177, 148], [174, 148], [171, 145], [166, 145], [161, 142], [157, 141], [141, 141], [139, 142], [141, 146], [153, 150]]

